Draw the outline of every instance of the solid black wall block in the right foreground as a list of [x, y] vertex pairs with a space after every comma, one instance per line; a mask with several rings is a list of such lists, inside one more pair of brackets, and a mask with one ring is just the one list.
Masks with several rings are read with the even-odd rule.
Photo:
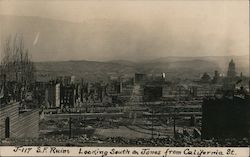
[[249, 137], [249, 96], [205, 98], [202, 105], [202, 138]]

